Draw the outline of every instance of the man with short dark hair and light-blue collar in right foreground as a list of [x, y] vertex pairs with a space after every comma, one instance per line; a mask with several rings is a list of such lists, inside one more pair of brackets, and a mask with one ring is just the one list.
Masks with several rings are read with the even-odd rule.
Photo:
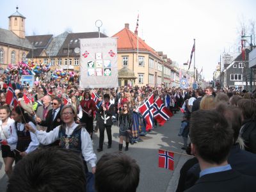
[[191, 152], [200, 165], [200, 179], [187, 192], [255, 191], [255, 177], [242, 175], [227, 162], [233, 144], [231, 125], [216, 110], [199, 110], [191, 115]]

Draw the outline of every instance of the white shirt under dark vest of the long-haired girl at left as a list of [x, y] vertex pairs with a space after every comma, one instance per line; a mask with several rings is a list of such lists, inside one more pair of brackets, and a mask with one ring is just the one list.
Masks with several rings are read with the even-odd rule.
[[[29, 122], [28, 124], [31, 125], [31, 127], [33, 127], [34, 129], [36, 129], [35, 124], [33, 124], [32, 122]], [[13, 124], [11, 126], [12, 126], [12, 135], [7, 140], [8, 144], [17, 143], [17, 141], [18, 141], [18, 135], [17, 135], [17, 131], [16, 131], [16, 128], [15, 128], [15, 122], [13, 122]], [[18, 123], [17, 124], [17, 129], [19, 129], [19, 131], [24, 131], [24, 124]], [[27, 150], [25, 150], [25, 152], [27, 154], [36, 150], [36, 148], [39, 145], [39, 141], [37, 140], [37, 138], [36, 138], [36, 136], [33, 132], [30, 132], [30, 137], [31, 137], [31, 141], [28, 145]]]

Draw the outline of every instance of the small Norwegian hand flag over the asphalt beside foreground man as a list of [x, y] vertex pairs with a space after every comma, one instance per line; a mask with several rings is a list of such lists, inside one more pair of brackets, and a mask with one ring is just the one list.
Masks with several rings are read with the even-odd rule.
[[174, 170], [174, 153], [166, 150], [158, 150], [158, 166], [168, 170]]

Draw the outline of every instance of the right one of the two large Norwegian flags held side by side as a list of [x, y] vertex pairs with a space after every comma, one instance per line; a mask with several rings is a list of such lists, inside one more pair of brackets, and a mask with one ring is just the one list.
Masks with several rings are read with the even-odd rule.
[[164, 125], [166, 120], [173, 116], [172, 112], [164, 106], [163, 101], [158, 97], [154, 103], [154, 118], [156, 118], [159, 125]]

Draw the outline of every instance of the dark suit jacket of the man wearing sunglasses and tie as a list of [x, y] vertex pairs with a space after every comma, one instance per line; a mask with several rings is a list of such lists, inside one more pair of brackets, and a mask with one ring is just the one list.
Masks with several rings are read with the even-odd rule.
[[42, 122], [39, 125], [45, 126], [47, 127], [46, 132], [50, 132], [52, 131], [55, 127], [58, 127], [59, 125], [62, 124], [61, 121], [61, 116], [60, 116], [60, 111], [57, 113], [56, 118], [54, 118], [53, 122], [52, 122], [52, 110], [50, 109], [47, 113], [47, 116], [45, 118], [45, 120], [42, 120]]

